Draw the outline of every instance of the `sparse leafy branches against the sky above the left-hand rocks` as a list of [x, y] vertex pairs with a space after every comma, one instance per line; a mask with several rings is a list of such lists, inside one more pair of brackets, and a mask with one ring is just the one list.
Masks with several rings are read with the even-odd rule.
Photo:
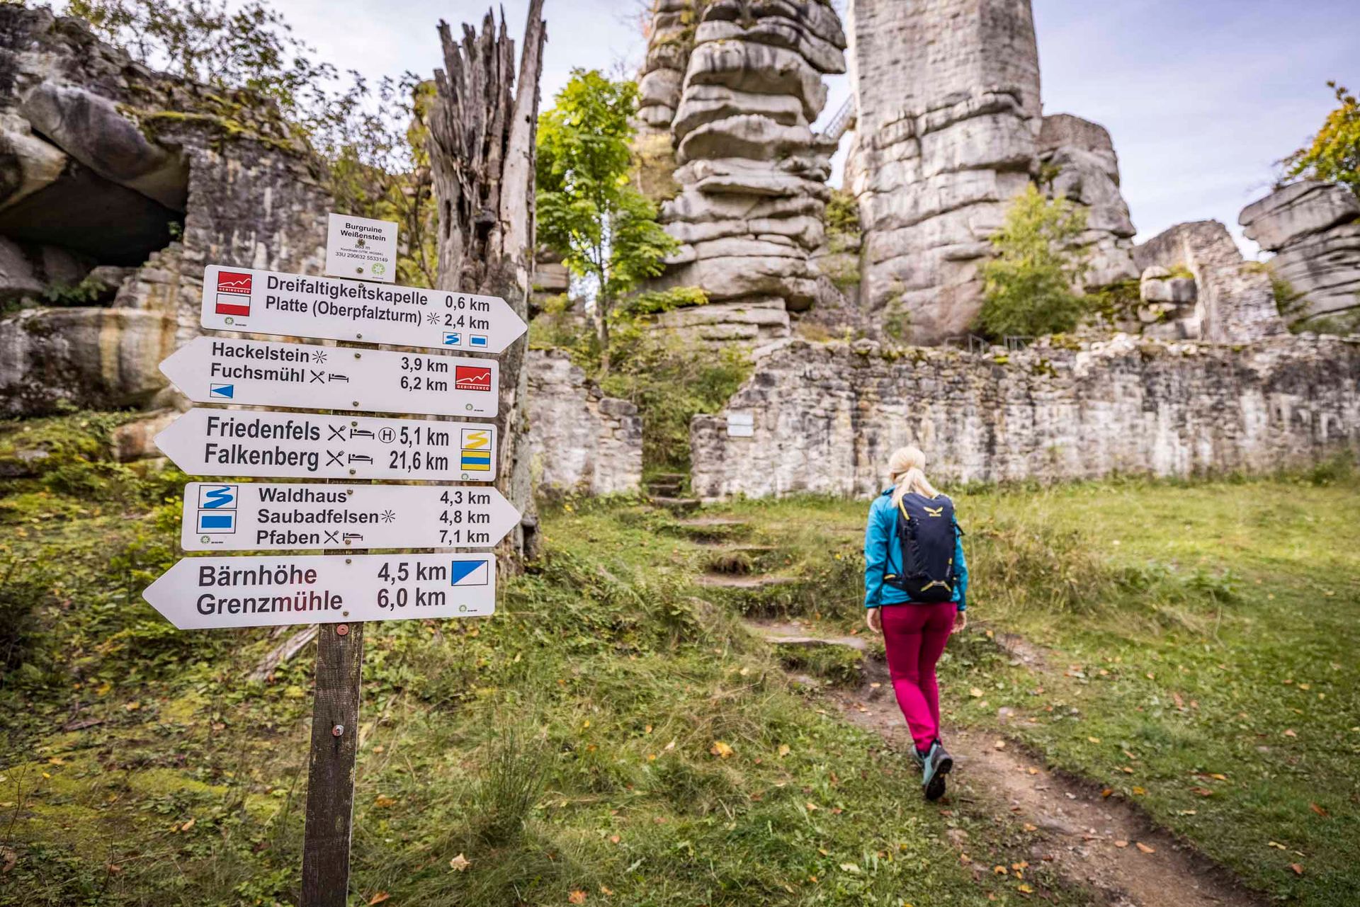
[[352, 71], [344, 80], [261, 0], [68, 0], [67, 14], [147, 65], [276, 103], [325, 162], [337, 209], [397, 222], [397, 280], [434, 286], [431, 88], [415, 73], [375, 87]]

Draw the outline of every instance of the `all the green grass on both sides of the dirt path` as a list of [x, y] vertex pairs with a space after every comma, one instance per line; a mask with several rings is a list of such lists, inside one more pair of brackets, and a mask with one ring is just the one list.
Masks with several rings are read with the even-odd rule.
[[[0, 462], [63, 430], [29, 427], [0, 426]], [[252, 683], [282, 635], [173, 630], [139, 593], [178, 556], [158, 502], [182, 477], [54, 449], [0, 485], [0, 903], [295, 903], [310, 653]], [[1319, 470], [956, 495], [975, 627], [947, 654], [947, 721], [991, 729], [1008, 707], [1002, 733], [1251, 885], [1350, 903], [1357, 492]], [[577, 502], [494, 619], [370, 626], [351, 903], [1084, 903], [1042, 866], [975, 872], [1025, 859], [1024, 838], [926, 808], [900, 755], [740, 627], [858, 627], [864, 511], [715, 509], [768, 547], [741, 568], [797, 579], [733, 594], [691, 583], [734, 559], [669, 517]], [[1002, 631], [1047, 668], [1008, 665]], [[843, 683], [842, 662], [798, 669]]]

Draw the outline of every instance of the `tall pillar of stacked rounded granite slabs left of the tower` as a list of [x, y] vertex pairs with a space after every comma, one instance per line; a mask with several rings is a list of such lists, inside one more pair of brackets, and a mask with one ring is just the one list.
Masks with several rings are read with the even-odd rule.
[[[715, 0], [694, 33], [670, 122], [679, 194], [662, 205], [681, 243], [662, 286], [699, 286], [706, 320], [786, 311], [834, 292], [809, 256], [823, 243], [835, 144], [812, 132], [824, 73], [843, 72], [845, 33], [823, 0]], [[650, 75], [650, 73], [649, 73]]]

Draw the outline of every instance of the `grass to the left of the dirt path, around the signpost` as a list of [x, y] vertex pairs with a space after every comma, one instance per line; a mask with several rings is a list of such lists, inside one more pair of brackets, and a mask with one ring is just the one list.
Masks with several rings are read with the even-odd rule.
[[[52, 465], [0, 488], [0, 903], [296, 903], [310, 653], [250, 683], [288, 631], [140, 601], [177, 558], [175, 476]], [[928, 808], [700, 597], [668, 518], [590, 503], [544, 534], [494, 619], [367, 627], [351, 904], [1081, 903], [975, 872], [1021, 836]]]

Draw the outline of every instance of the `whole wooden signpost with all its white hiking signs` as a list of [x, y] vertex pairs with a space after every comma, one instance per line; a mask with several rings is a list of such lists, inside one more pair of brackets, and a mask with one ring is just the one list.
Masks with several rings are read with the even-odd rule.
[[[366, 233], [341, 233], [348, 245], [328, 249], [335, 253], [332, 267], [345, 273], [352, 268], [367, 280], [390, 279], [386, 253], [370, 241], [381, 228], [355, 219], [341, 227], [354, 233], [355, 223]], [[196, 408], [166, 428], [156, 445], [192, 475], [328, 480], [190, 483], [184, 548], [335, 553], [185, 558], [143, 593], [181, 630], [321, 624], [302, 907], [344, 907], [364, 621], [495, 612], [490, 552], [369, 551], [491, 548], [520, 514], [484, 484], [329, 480], [492, 481], [496, 442], [505, 439], [490, 423], [352, 413], [495, 416], [494, 360], [428, 351], [499, 354], [528, 326], [496, 296], [226, 265], [204, 271], [201, 325], [347, 343], [336, 348], [200, 337], [162, 363], [197, 403], [330, 411]], [[378, 343], [423, 352], [378, 351]]]

